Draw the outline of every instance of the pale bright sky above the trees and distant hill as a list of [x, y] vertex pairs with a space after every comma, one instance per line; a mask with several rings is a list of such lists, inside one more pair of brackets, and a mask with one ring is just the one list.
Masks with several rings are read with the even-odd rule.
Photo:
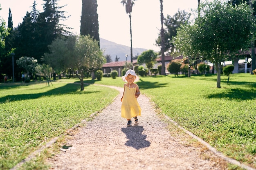
[[[201, 0], [203, 2], [204, 0]], [[0, 17], [8, 24], [9, 8], [11, 8], [13, 27], [23, 21], [27, 11], [31, 11], [34, 0], [0, 0]], [[36, 9], [42, 11], [43, 0], [36, 0]], [[130, 20], [126, 14], [121, 0], [97, 0], [99, 15], [100, 38], [130, 46]], [[70, 15], [65, 21], [67, 26], [74, 28], [73, 32], [80, 33], [80, 19], [82, 0], [59, 0], [58, 5], [67, 4], [62, 10]], [[163, 0], [164, 17], [173, 16], [177, 11], [185, 10], [191, 12], [196, 9], [198, 0]], [[153, 49], [159, 51], [155, 46], [155, 40], [161, 29], [160, 1], [159, 0], [136, 0], [132, 8], [132, 47]]]

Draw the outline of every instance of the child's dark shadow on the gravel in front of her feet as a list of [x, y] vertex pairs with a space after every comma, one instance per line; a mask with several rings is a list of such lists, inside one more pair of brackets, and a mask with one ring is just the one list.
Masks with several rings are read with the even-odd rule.
[[132, 126], [122, 128], [122, 132], [126, 134], [126, 138], [129, 139], [125, 145], [131, 146], [137, 150], [150, 146], [150, 142], [146, 140], [147, 135], [142, 135], [143, 126]]

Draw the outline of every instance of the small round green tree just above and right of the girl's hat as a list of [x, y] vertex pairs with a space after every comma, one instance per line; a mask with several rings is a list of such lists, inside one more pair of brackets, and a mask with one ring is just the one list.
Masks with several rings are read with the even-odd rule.
[[155, 64], [155, 59], [157, 58], [157, 53], [155, 53], [153, 50], [147, 50], [143, 51], [141, 55], [138, 56], [137, 62], [138, 64], [146, 64], [148, 67], [148, 70], [150, 68], [153, 68]]

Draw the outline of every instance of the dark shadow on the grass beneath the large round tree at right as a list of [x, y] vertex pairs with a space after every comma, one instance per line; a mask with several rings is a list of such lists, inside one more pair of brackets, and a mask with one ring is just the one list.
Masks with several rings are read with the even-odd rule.
[[252, 89], [227, 89], [225, 92], [208, 95], [207, 98], [227, 98], [230, 100], [254, 100], [256, 91]]

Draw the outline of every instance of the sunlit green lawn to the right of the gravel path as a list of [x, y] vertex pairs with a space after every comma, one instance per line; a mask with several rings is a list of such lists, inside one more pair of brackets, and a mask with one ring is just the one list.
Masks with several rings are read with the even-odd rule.
[[[162, 113], [180, 126], [207, 141], [228, 157], [256, 168], [256, 76], [216, 75], [140, 77], [142, 93], [155, 102]], [[122, 86], [119, 78], [101, 84]]]

